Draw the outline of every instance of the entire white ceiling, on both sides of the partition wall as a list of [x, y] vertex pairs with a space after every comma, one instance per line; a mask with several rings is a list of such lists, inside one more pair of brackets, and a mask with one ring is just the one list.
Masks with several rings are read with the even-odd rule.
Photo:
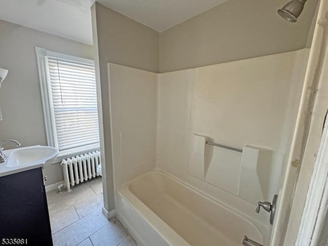
[[[97, 0], [158, 32], [227, 0]], [[94, 0], [0, 0], [0, 19], [92, 44]]]

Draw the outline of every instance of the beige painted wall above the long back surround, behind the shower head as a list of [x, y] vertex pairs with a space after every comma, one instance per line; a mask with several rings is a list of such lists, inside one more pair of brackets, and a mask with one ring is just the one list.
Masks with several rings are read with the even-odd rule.
[[277, 14], [285, 0], [231, 0], [160, 33], [159, 71], [168, 72], [302, 49], [316, 0], [297, 23]]

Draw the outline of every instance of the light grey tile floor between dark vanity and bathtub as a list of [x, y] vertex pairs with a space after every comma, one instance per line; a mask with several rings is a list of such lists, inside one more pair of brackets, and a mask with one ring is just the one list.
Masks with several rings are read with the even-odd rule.
[[74, 186], [71, 192], [47, 193], [54, 246], [136, 246], [117, 218], [101, 209], [101, 177]]

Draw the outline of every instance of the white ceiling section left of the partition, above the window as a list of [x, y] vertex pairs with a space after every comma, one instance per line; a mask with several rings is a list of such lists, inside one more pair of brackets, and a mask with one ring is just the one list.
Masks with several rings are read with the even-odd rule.
[[92, 44], [89, 0], [0, 0], [0, 19]]

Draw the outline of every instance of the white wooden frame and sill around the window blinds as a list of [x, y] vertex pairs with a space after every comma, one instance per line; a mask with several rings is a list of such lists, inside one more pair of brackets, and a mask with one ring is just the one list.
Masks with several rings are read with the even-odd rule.
[[[43, 104], [42, 106], [43, 106], [43, 114], [44, 114], [44, 121], [46, 127], [47, 144], [48, 146], [52, 146], [59, 149], [56, 126], [55, 126], [54, 108], [53, 108], [47, 56], [57, 57], [60, 59], [67, 59], [71, 61], [76, 61], [77, 63], [84, 63], [93, 66], [94, 66], [94, 60], [53, 52], [40, 47], [35, 47], [35, 54], [36, 54], [38, 73], [39, 73], [39, 83], [40, 83], [40, 91], [41, 91], [42, 104]], [[100, 144], [95, 148], [86, 148], [86, 147], [87, 146], [75, 147], [75, 148], [59, 151], [58, 156], [55, 159], [54, 163], [62, 159], [65, 159], [67, 157], [83, 154], [93, 150], [99, 150]]]

